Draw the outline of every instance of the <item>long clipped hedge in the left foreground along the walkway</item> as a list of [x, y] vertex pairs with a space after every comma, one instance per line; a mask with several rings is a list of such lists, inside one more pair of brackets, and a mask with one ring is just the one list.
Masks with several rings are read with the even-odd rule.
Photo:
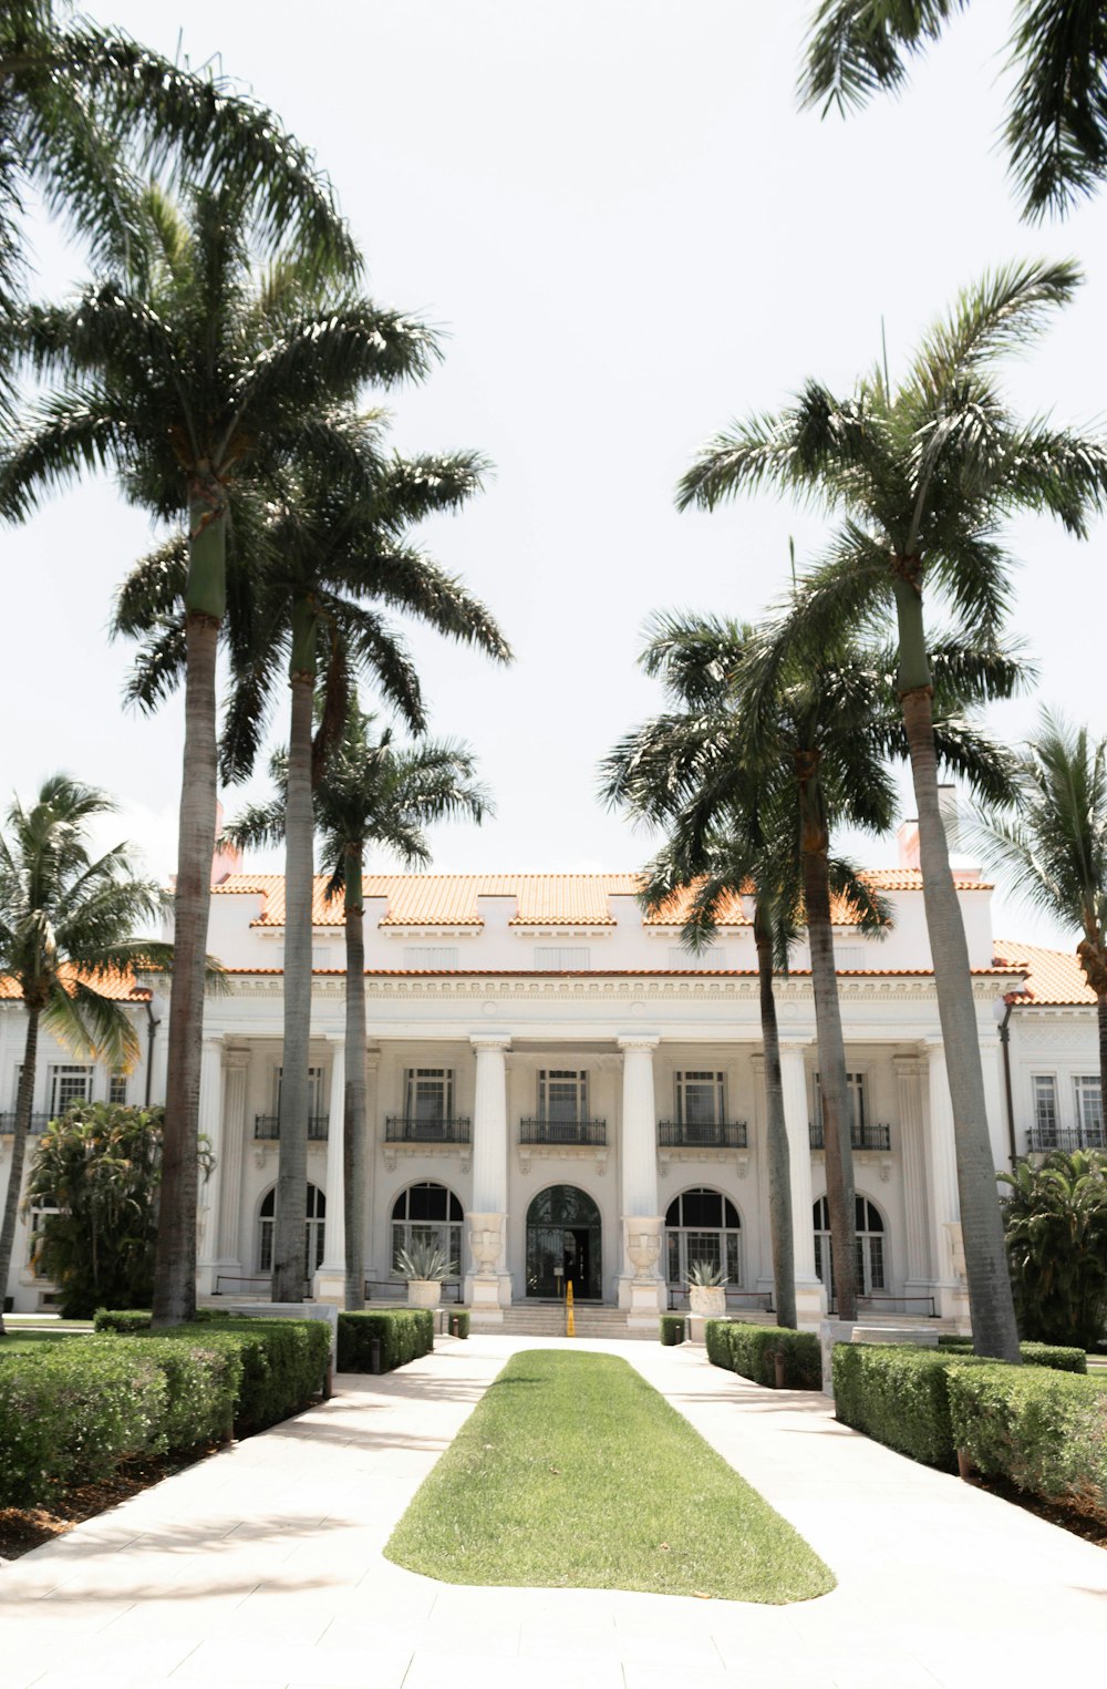
[[42, 1343], [0, 1368], [0, 1507], [96, 1483], [125, 1459], [189, 1451], [305, 1407], [331, 1333], [314, 1321], [211, 1321]]

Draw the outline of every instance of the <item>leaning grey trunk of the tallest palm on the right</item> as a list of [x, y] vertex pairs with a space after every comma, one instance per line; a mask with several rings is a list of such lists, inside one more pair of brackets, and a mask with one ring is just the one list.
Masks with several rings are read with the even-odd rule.
[[899, 620], [899, 698], [918, 806], [923, 907], [945, 1044], [945, 1069], [953, 1105], [957, 1189], [960, 1192], [972, 1339], [977, 1355], [991, 1355], [996, 1360], [1019, 1365], [1019, 1334], [1014, 1321], [1002, 1214], [987, 1130], [969, 944], [938, 804], [938, 758], [933, 740], [933, 694], [923, 605], [921, 593], [910, 578], [896, 581], [896, 611]]

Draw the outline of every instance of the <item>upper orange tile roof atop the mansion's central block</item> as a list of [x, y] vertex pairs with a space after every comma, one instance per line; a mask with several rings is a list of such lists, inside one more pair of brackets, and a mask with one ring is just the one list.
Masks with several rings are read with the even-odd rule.
[[[923, 877], [916, 868], [871, 868], [867, 882], [878, 892], [921, 892]], [[513, 897], [513, 927], [564, 926], [613, 927], [611, 897], [634, 897], [641, 887], [638, 873], [366, 873], [364, 897], [386, 900], [381, 927], [481, 927], [481, 897]], [[962, 892], [991, 890], [987, 882], [958, 880]], [[262, 912], [256, 927], [284, 927], [285, 880], [282, 873], [231, 873], [213, 885], [213, 897], [258, 895]], [[648, 927], [680, 926], [692, 892], [675, 893], [653, 915], [643, 915]], [[845, 917], [844, 917], [845, 919]], [[316, 875], [312, 926], [341, 927], [341, 897], [326, 897], [326, 877]], [[721, 927], [749, 927], [739, 897], [724, 902]]]

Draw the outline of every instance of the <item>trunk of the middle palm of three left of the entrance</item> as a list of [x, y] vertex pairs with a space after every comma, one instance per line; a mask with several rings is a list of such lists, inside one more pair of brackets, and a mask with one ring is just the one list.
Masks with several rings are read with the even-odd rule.
[[[314, 660], [304, 657], [294, 610], [292, 720], [289, 728], [289, 790], [285, 807], [285, 1020], [280, 1074], [280, 1160], [273, 1221], [273, 1301], [302, 1302], [307, 1219], [307, 1066], [310, 1057], [312, 839], [310, 787]], [[314, 635], [312, 635], [314, 637]], [[331, 1121], [331, 1132], [339, 1132]]]

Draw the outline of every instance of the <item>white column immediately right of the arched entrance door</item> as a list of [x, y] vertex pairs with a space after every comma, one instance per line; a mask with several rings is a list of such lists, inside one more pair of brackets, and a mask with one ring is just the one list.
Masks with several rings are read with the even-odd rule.
[[626, 1260], [619, 1279], [619, 1307], [628, 1326], [656, 1328], [665, 1307], [665, 1279], [660, 1258], [665, 1216], [658, 1214], [656, 1189], [656, 1106], [653, 1101], [653, 1052], [658, 1039], [628, 1035], [623, 1051], [623, 1137], [619, 1145], [623, 1194], [623, 1246]]

